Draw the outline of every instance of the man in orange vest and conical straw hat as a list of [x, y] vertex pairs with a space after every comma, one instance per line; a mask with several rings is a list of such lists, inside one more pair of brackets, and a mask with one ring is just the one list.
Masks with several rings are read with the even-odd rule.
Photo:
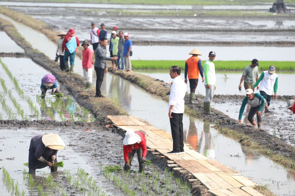
[[192, 56], [189, 59], [187, 59], [185, 62], [184, 82], [187, 83], [186, 76], [188, 76], [189, 87], [191, 91], [191, 93], [189, 94], [189, 103], [196, 104], [197, 102], [196, 102], [195, 91], [198, 85], [199, 73], [202, 76], [202, 82], [204, 82], [202, 63], [201, 63], [201, 59], [198, 57], [198, 55], [202, 55], [202, 54], [197, 48], [195, 48], [189, 54], [191, 54]]

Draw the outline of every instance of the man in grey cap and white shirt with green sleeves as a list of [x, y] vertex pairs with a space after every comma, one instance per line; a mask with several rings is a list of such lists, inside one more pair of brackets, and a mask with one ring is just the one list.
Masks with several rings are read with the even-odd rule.
[[[265, 110], [264, 112], [268, 113], [271, 112], [268, 108], [268, 106], [271, 104], [271, 94], [275, 93], [274, 98], [276, 99], [277, 96], [277, 91], [278, 91], [278, 75], [275, 73], [276, 72], [276, 67], [271, 65], [268, 68], [268, 71], [263, 71], [259, 77], [259, 79], [256, 81], [255, 85], [253, 88], [257, 86], [257, 90], [259, 88], [260, 94], [265, 98], [266, 103], [265, 103]], [[258, 84], [260, 83], [260, 86], [258, 87]]]

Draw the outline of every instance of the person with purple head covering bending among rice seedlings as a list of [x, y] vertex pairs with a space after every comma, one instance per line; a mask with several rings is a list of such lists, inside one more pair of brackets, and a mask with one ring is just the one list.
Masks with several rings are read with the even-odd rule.
[[[46, 91], [51, 89], [51, 95], [59, 93], [59, 87], [57, 86], [55, 77], [52, 74], [46, 74], [41, 80], [41, 97], [45, 98]], [[59, 95], [58, 95], [59, 96]]]

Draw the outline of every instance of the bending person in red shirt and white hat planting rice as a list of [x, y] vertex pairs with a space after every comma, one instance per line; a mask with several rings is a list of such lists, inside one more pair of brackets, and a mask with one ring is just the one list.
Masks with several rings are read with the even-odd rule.
[[145, 171], [145, 156], [147, 154], [146, 134], [142, 131], [129, 130], [123, 140], [124, 170], [130, 170], [132, 158], [137, 153], [139, 171]]

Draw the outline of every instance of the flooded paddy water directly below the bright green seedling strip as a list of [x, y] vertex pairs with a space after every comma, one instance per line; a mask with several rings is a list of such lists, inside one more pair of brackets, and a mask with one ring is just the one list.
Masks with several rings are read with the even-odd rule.
[[[203, 61], [204, 62], [204, 61]], [[135, 73], [141, 73], [143, 75], [151, 76], [152, 78], [163, 80], [164, 82], [170, 83], [172, 79], [169, 76], [168, 71], [134, 71]], [[261, 73], [261, 71], [260, 71]], [[278, 74], [278, 95], [294, 95], [294, 91], [290, 91], [288, 88], [295, 82], [295, 72], [277, 72]], [[227, 77], [227, 78], [226, 78]], [[239, 91], [238, 86], [242, 77], [242, 71], [218, 71], [216, 73], [217, 88], [215, 94], [217, 95], [244, 95], [245, 88], [242, 83], [242, 92]], [[184, 80], [184, 72], [181, 73], [181, 78]], [[198, 86], [196, 88], [196, 94], [206, 95], [204, 83], [201, 83], [199, 78]], [[189, 82], [187, 83], [187, 92], [189, 92]], [[255, 92], [259, 92], [255, 89]]]

